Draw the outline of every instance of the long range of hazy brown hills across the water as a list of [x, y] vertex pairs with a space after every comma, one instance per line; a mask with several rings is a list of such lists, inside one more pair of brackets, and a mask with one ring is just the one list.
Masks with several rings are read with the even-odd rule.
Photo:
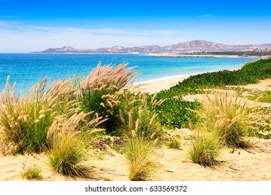
[[209, 42], [206, 40], [192, 40], [189, 42], [180, 42], [176, 45], [168, 45], [161, 47], [159, 45], [145, 45], [138, 47], [122, 47], [114, 46], [110, 48], [99, 48], [99, 49], [75, 49], [70, 46], [64, 46], [61, 48], [49, 48], [42, 52], [33, 53], [44, 53], [44, 54], [184, 54], [184, 53], [195, 53], [195, 52], [271, 52], [270, 44], [261, 45], [224, 45], [217, 42]]

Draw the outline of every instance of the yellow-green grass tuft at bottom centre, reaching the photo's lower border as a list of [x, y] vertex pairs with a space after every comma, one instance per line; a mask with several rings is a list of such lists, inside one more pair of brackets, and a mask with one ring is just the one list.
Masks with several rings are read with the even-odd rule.
[[156, 162], [151, 157], [154, 152], [154, 143], [151, 139], [136, 136], [126, 141], [124, 156], [129, 164], [129, 180], [144, 181], [149, 180], [151, 173], [156, 168]]

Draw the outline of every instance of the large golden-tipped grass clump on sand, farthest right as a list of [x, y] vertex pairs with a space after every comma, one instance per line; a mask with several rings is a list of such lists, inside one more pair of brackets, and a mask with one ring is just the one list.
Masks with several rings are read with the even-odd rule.
[[[240, 93], [239, 93], [240, 94]], [[256, 110], [257, 104], [251, 104], [247, 98], [219, 93], [205, 95], [202, 101], [203, 116], [209, 131], [214, 131], [226, 146], [245, 147], [244, 139], [249, 125], [261, 118]]]

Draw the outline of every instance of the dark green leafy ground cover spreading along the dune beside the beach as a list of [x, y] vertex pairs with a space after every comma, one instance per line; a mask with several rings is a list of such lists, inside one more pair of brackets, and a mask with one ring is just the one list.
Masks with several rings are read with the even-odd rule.
[[183, 101], [181, 98], [184, 95], [202, 94], [204, 89], [209, 88], [255, 84], [260, 79], [267, 78], [271, 78], [271, 58], [246, 63], [240, 70], [222, 70], [192, 75], [176, 86], [158, 93], [157, 99], [165, 99], [165, 102], [156, 109], [156, 113], [161, 123], [167, 127], [188, 127], [187, 118], [190, 118], [196, 125], [199, 118], [187, 108], [198, 110], [200, 109], [199, 103]]

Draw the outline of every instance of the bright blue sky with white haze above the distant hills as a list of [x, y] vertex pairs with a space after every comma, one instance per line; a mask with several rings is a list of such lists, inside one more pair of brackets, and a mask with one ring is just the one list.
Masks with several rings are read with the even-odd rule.
[[270, 0], [0, 0], [0, 53], [190, 40], [271, 43], [270, 8]]

